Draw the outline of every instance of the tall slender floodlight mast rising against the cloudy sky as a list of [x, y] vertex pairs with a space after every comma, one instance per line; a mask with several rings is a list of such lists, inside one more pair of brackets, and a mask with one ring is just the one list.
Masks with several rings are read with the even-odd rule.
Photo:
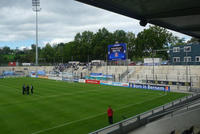
[[36, 14], [36, 55], [35, 55], [35, 65], [38, 65], [38, 12], [41, 11], [40, 0], [32, 0], [33, 11]]

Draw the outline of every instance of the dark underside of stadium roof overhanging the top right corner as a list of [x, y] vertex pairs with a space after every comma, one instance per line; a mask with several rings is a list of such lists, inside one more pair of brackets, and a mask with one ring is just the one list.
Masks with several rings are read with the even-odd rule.
[[200, 0], [77, 0], [200, 38]]

